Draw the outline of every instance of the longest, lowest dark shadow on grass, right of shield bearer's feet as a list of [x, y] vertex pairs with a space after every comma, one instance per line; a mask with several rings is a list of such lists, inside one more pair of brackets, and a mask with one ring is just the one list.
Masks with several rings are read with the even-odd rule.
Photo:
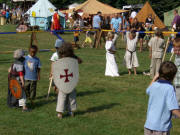
[[86, 113], [95, 113], [95, 112], [99, 112], [99, 111], [103, 111], [103, 110], [108, 110], [108, 109], [111, 109], [114, 106], [118, 106], [118, 105], [120, 105], [120, 104], [119, 103], [111, 103], [111, 104], [107, 104], [107, 105], [91, 107], [84, 111], [77, 111], [76, 115], [84, 115]]

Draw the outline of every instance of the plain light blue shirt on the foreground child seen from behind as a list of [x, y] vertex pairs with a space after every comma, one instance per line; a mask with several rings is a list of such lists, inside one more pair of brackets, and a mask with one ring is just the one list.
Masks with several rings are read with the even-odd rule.
[[169, 131], [172, 127], [172, 110], [179, 109], [174, 87], [169, 81], [154, 82], [146, 93], [149, 95], [145, 128], [155, 131]]

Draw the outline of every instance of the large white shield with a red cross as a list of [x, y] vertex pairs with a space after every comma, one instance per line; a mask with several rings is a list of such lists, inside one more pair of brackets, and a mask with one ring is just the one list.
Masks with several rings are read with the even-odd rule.
[[78, 61], [69, 57], [59, 59], [52, 65], [52, 75], [57, 88], [69, 94], [79, 81]]

